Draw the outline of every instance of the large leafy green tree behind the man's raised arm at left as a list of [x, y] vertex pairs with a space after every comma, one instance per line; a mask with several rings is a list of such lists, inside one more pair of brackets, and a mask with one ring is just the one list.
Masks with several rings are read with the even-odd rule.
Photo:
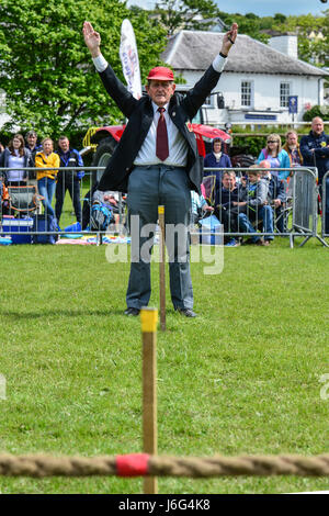
[[7, 93], [8, 128], [34, 127], [41, 135], [117, 123], [117, 110], [98, 78], [82, 37], [87, 19], [101, 33], [102, 52], [125, 82], [118, 56], [121, 24], [129, 18], [141, 76], [160, 63], [166, 33], [145, 11], [118, 0], [1, 0], [0, 88]]

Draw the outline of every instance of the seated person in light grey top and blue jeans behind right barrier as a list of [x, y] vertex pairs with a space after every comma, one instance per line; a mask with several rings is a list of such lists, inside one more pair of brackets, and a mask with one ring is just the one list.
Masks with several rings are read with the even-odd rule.
[[[232, 202], [234, 206], [237, 206], [239, 210], [239, 228], [246, 233], [256, 233], [259, 223], [262, 222], [263, 232], [273, 234], [273, 210], [266, 204], [269, 184], [261, 178], [258, 165], [252, 165], [248, 169], [247, 176], [247, 183], [241, 189], [240, 200]], [[273, 238], [273, 235], [266, 235], [264, 238], [254, 235], [243, 244], [269, 246]]]

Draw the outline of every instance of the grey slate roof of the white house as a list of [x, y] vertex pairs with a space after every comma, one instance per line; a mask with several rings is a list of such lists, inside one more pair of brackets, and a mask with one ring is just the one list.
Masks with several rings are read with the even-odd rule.
[[[172, 36], [161, 58], [175, 70], [205, 70], [220, 49], [224, 34], [181, 31]], [[225, 72], [326, 76], [326, 70], [282, 54], [269, 45], [239, 34], [229, 53]]]

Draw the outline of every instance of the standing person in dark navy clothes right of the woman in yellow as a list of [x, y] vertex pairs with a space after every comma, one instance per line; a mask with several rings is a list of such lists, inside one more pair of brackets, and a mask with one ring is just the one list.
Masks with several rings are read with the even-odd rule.
[[[70, 147], [67, 136], [58, 139], [57, 154], [60, 159], [60, 167], [83, 167], [82, 158], [78, 150]], [[59, 224], [66, 191], [69, 191], [77, 222], [82, 222], [82, 210], [80, 203], [80, 180], [84, 176], [83, 170], [59, 170], [56, 186], [56, 218]]]

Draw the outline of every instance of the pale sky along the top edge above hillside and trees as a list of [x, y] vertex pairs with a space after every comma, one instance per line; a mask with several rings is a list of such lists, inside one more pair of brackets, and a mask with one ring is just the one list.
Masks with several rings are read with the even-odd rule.
[[[259, 16], [272, 16], [276, 12], [285, 15], [313, 15], [321, 14], [329, 9], [329, 0], [322, 3], [320, 0], [215, 0], [218, 8], [224, 12], [246, 14], [253, 12]], [[155, 5], [152, 0], [128, 0], [128, 5], [135, 4], [151, 9]]]

